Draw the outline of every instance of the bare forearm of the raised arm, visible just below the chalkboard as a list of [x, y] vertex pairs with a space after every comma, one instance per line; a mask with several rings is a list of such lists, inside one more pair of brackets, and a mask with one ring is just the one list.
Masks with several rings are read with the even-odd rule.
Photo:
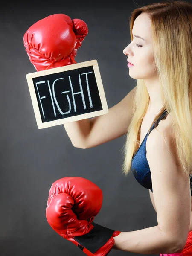
[[84, 148], [90, 133], [90, 119], [82, 119], [64, 124], [65, 131], [71, 143], [79, 148]]

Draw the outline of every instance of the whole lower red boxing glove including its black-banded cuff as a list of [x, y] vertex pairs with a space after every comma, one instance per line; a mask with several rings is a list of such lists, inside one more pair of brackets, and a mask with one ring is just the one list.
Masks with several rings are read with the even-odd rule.
[[47, 201], [46, 218], [62, 237], [89, 256], [105, 256], [120, 231], [93, 222], [102, 207], [102, 190], [90, 180], [65, 177], [55, 181]]

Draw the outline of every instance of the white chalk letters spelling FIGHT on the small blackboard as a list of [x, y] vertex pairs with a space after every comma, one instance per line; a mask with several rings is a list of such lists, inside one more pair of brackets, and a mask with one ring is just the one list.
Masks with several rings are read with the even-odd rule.
[[[73, 92], [73, 84], [72, 84], [72, 81], [71, 81], [70, 76], [68, 76], [69, 84], [70, 84], [70, 89], [71, 89], [71, 95], [72, 95], [72, 99], [73, 99], [73, 108], [74, 108], [74, 111], [75, 111], [75, 112], [77, 111], [77, 109], [76, 109], [75, 97], [74, 97], [74, 95], [76, 95], [76, 94], [81, 94], [83, 107], [84, 107], [84, 109], [87, 109], [86, 103], [85, 103], [85, 99], [84, 99], [84, 91], [83, 91], [83, 87], [82, 87], [82, 83], [81, 83], [81, 76], [82, 76], [82, 75], [85, 75], [85, 78], [86, 78], [86, 86], [87, 86], [87, 93], [88, 93], [89, 103], [90, 103], [90, 108], [93, 108], [93, 102], [92, 102], [92, 99], [91, 99], [91, 94], [90, 94], [90, 89], [89, 89], [89, 81], [88, 81], [88, 76], [87, 76], [87, 74], [90, 74], [90, 73], [93, 73], [93, 71], [87, 72], [87, 73], [82, 73], [82, 74], [79, 74], [79, 75], [78, 75], [78, 77], [79, 77], [79, 87], [80, 87], [80, 91], [79, 91], [79, 92], [76, 92], [76, 93]], [[48, 84], [48, 88], [49, 88], [49, 94], [50, 94], [50, 98], [51, 98], [51, 102], [52, 102], [52, 108], [53, 108], [53, 112], [54, 112], [54, 116], [55, 116], [55, 117], [57, 116], [56, 111], [55, 111], [55, 105], [56, 105], [56, 107], [57, 107], [59, 113], [61, 113], [61, 115], [68, 114], [68, 113], [71, 112], [71, 102], [70, 102], [70, 98], [69, 98], [69, 95], [68, 95], [68, 94], [67, 94], [66, 97], [67, 97], [67, 101], [68, 101], [68, 104], [69, 104], [69, 111], [67, 111], [67, 112], [61, 111], [61, 108], [60, 108], [60, 106], [59, 106], [59, 104], [58, 104], [58, 100], [57, 100], [56, 95], [55, 95], [55, 85], [56, 85], [55, 83], [56, 83], [56, 81], [58, 81], [58, 80], [64, 80], [64, 78], [58, 78], [58, 79], [56, 79], [55, 81], [53, 81], [53, 83], [52, 83], [52, 90], [51, 90], [51, 87], [50, 87], [49, 80], [47, 80], [47, 84]], [[39, 90], [38, 90], [38, 84], [45, 84], [45, 83], [46, 83], [46, 81], [39, 81], [39, 82], [36, 82], [36, 83], [35, 83], [35, 84], [36, 84], [36, 87], [37, 87], [38, 98], [39, 98], [39, 101], [40, 101], [41, 111], [42, 111], [42, 113], [43, 113], [44, 119], [45, 119], [45, 114], [44, 114], [44, 108], [43, 108], [43, 105], [42, 105], [41, 100], [42, 100], [42, 99], [45, 99], [46, 96], [42, 96], [42, 97], [40, 96], [40, 93], [39, 93]], [[69, 91], [69, 90], [63, 91], [61, 94], [63, 94], [63, 93], [70, 93], [70, 91]], [[54, 103], [54, 102], [55, 102], [55, 103]]]

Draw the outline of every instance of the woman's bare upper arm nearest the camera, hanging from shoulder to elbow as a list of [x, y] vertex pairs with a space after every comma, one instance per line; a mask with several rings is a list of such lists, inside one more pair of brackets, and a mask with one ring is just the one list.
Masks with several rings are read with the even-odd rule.
[[157, 222], [170, 242], [184, 248], [190, 225], [190, 180], [177, 157], [171, 127], [166, 125], [166, 119], [162, 121], [158, 131], [151, 131], [146, 143]]

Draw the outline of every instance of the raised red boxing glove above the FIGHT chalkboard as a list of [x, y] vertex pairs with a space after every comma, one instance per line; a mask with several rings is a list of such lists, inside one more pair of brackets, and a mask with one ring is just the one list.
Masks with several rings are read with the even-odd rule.
[[83, 20], [65, 14], [53, 14], [33, 24], [23, 43], [37, 71], [76, 63], [75, 56], [88, 34]]

